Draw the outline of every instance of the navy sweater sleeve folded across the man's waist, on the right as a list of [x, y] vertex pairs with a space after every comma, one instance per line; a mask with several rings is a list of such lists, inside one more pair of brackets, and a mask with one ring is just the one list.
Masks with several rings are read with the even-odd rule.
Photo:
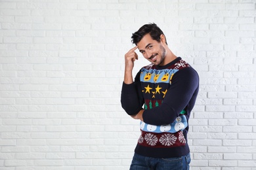
[[163, 103], [159, 107], [144, 110], [142, 115], [144, 122], [156, 126], [174, 122], [189, 103], [193, 105], [189, 106], [190, 109], [194, 107], [198, 86], [198, 73], [192, 67], [181, 69], [173, 76]]

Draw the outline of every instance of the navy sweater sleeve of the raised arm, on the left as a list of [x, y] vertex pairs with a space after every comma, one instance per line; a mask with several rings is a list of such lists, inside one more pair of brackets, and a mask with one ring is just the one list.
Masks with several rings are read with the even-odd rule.
[[144, 104], [140, 85], [140, 71], [132, 84], [125, 84], [121, 89], [121, 106], [129, 115], [137, 114]]

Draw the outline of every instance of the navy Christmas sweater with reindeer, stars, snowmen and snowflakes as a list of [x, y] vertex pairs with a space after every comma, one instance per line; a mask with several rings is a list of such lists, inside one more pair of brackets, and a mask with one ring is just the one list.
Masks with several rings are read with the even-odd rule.
[[142, 67], [132, 84], [123, 83], [121, 105], [127, 114], [137, 114], [144, 106], [135, 153], [152, 158], [188, 154], [188, 120], [198, 90], [198, 73], [181, 58]]

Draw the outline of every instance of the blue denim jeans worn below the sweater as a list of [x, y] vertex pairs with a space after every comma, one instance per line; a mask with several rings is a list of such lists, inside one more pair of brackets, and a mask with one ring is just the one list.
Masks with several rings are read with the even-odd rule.
[[190, 154], [179, 158], [150, 158], [134, 154], [130, 170], [188, 170]]

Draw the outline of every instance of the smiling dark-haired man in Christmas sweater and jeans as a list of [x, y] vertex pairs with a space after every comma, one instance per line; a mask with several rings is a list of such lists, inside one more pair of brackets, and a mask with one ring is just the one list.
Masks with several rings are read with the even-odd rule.
[[[130, 169], [189, 169], [188, 119], [198, 95], [198, 73], [171, 52], [156, 24], [143, 25], [131, 38], [136, 46], [125, 54], [121, 105], [141, 120], [141, 135]], [[133, 81], [137, 49], [151, 64]]]

